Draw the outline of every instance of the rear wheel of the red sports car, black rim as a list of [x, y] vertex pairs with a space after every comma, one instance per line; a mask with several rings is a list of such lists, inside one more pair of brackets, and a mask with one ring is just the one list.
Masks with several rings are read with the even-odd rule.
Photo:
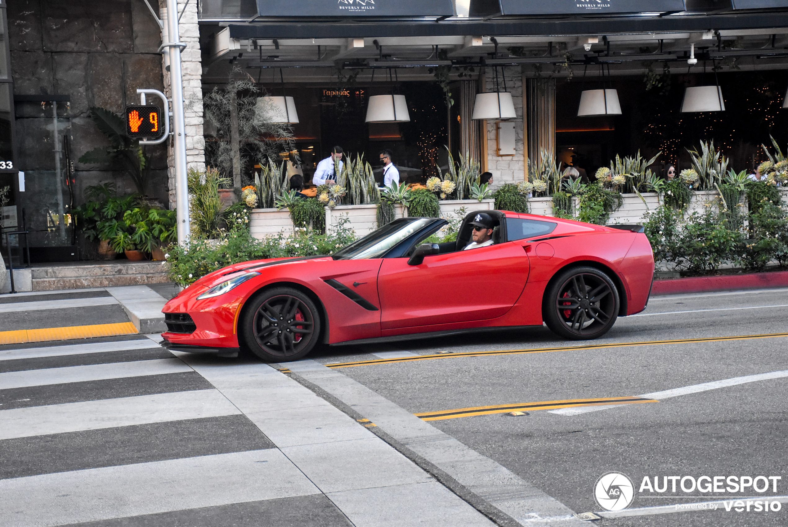
[[593, 267], [571, 267], [559, 273], [545, 291], [542, 314], [556, 335], [592, 340], [615, 324], [619, 302], [619, 289], [610, 276]]

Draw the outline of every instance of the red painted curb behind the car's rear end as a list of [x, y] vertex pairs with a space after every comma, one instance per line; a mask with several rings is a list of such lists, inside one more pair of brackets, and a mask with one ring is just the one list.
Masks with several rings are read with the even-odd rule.
[[775, 271], [773, 273], [697, 276], [694, 278], [663, 278], [662, 280], [654, 280], [651, 294], [675, 295], [678, 293], [786, 287], [788, 287], [788, 271]]

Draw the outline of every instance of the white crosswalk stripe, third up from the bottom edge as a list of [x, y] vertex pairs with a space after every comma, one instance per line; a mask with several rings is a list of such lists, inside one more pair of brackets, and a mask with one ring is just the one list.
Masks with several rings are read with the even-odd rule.
[[121, 377], [141, 377], [163, 373], [190, 372], [177, 358], [156, 358], [150, 361], [110, 362], [88, 366], [65, 366], [63, 368], [27, 369], [18, 372], [0, 373], [0, 390], [43, 386], [45, 384], [65, 384], [87, 380], [119, 379]]

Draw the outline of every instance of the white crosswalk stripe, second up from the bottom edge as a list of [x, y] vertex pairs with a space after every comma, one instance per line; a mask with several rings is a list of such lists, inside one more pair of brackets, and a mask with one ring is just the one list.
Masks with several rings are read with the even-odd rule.
[[0, 410], [0, 440], [240, 413], [217, 390], [29, 406]]

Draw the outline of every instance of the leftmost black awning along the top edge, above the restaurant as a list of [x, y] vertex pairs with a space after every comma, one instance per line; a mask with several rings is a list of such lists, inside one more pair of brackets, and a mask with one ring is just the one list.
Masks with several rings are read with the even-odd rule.
[[452, 0], [257, 0], [261, 17], [452, 17]]

